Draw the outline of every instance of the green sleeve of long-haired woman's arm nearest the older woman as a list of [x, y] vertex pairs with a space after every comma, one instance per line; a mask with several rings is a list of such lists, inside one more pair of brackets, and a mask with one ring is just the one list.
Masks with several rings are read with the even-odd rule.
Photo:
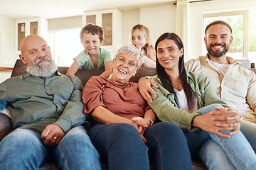
[[[156, 80], [156, 79], [154, 79]], [[156, 91], [156, 98], [154, 98], [153, 103], [149, 103], [149, 106], [154, 110], [156, 115], [161, 121], [171, 121], [178, 125], [183, 131], [195, 132], [199, 128], [193, 127], [192, 121], [196, 115], [199, 113], [188, 113], [181, 108], [177, 108], [176, 103], [174, 102], [174, 94], [170, 94], [169, 91], [164, 89], [161, 84], [159, 88], [152, 88]]]

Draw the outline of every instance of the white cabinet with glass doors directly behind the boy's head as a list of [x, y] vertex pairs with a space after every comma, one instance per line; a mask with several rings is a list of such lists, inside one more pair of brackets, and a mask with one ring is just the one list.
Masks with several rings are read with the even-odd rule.
[[107, 49], [117, 49], [122, 43], [122, 13], [117, 8], [86, 11], [82, 15], [82, 25], [93, 23], [104, 30], [104, 44]]

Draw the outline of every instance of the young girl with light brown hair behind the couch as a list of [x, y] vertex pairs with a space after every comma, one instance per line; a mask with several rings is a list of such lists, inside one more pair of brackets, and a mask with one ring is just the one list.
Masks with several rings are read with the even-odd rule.
[[142, 24], [134, 26], [130, 34], [130, 43], [144, 55], [144, 65], [146, 67], [156, 67], [156, 53], [150, 40], [149, 28]]

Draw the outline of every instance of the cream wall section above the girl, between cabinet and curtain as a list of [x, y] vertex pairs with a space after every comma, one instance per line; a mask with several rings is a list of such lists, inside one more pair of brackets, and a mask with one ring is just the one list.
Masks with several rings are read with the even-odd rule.
[[129, 43], [129, 33], [138, 23], [149, 28], [154, 45], [161, 34], [176, 30], [176, 6], [167, 3], [122, 11], [122, 45]]

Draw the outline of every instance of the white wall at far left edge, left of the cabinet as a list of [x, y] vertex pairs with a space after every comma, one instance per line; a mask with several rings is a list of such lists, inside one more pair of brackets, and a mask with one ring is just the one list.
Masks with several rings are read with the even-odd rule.
[[0, 14], [0, 67], [14, 67], [18, 55], [14, 50], [15, 21]]

